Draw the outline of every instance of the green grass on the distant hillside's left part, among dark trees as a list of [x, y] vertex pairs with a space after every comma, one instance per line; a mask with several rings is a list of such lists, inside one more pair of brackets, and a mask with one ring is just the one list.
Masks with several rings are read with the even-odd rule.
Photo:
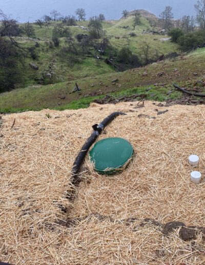
[[[19, 41], [19, 38], [17, 38]], [[32, 41], [20, 40], [20, 44], [24, 47], [32, 47], [34, 43]], [[36, 48], [38, 55], [37, 60], [31, 58], [25, 59], [24, 75], [27, 85], [36, 84], [35, 78], [42, 76], [42, 71], [49, 69], [49, 64], [54, 59], [53, 71], [59, 77], [59, 81], [71, 81], [84, 77], [93, 77], [96, 74], [104, 74], [108, 72], [114, 72], [114, 69], [107, 65], [103, 60], [97, 60], [95, 58], [85, 58], [81, 60], [81, 63], [75, 63], [74, 65], [69, 63], [67, 58], [60, 58], [57, 54], [60, 53], [60, 49], [64, 46], [64, 39], [60, 40], [60, 46], [48, 49], [45, 42], [40, 42], [40, 47]], [[69, 54], [68, 54], [69, 55]], [[39, 69], [33, 70], [28, 65], [30, 62], [35, 63]]]

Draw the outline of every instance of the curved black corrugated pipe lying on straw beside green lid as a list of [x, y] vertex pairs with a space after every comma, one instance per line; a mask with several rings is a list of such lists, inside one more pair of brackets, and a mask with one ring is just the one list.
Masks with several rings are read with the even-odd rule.
[[88, 138], [88, 140], [83, 145], [83, 147], [80, 149], [80, 152], [75, 158], [75, 162], [73, 163], [72, 177], [70, 181], [71, 181], [71, 184], [74, 186], [74, 188], [71, 191], [67, 191], [67, 196], [66, 196], [67, 199], [72, 201], [75, 197], [75, 187], [77, 187], [79, 183], [81, 182], [81, 178], [79, 177], [78, 172], [91, 145], [97, 140], [98, 136], [102, 133], [105, 127], [119, 115], [126, 115], [126, 114], [123, 112], [119, 112], [119, 111], [113, 112], [111, 115], [105, 118], [100, 124], [95, 124], [92, 126], [94, 130], [93, 133]]

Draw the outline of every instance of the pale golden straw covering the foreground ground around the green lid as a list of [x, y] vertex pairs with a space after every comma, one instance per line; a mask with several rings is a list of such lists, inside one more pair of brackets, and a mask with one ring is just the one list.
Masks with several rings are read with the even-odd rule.
[[[156, 108], [168, 112], [157, 116]], [[95, 173], [87, 157], [84, 181], [70, 202], [65, 193], [73, 161], [91, 126], [114, 111], [127, 116], [117, 117], [99, 139], [125, 138], [135, 156], [123, 173], [109, 177]], [[0, 121], [0, 261], [205, 263], [205, 180], [193, 184], [188, 164], [197, 154], [205, 176], [203, 105], [92, 104]]]

